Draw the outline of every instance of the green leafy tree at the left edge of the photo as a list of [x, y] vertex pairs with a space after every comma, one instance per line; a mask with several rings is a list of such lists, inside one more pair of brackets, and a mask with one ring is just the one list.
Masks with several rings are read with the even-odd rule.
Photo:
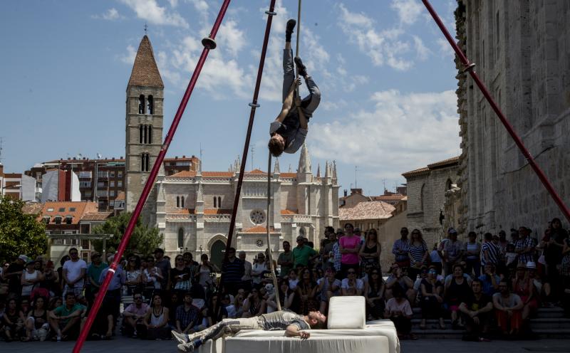
[[0, 196], [0, 259], [12, 260], [25, 254], [44, 255], [48, 248], [46, 226], [37, 214], [24, 214], [24, 201]]

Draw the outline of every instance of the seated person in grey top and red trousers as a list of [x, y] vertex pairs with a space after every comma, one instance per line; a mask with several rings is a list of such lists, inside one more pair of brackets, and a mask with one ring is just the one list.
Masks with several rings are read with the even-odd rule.
[[516, 336], [522, 326], [521, 298], [511, 293], [507, 281], [499, 283], [499, 293], [493, 295], [493, 306], [497, 315], [497, 325], [505, 337]]

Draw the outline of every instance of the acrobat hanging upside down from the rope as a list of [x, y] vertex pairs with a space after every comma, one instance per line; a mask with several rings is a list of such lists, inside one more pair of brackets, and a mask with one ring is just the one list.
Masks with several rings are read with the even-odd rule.
[[[274, 157], [281, 153], [295, 153], [303, 145], [309, 130], [309, 119], [321, 102], [321, 92], [318, 90], [313, 78], [307, 75], [307, 70], [301, 58], [295, 58], [299, 75], [305, 79], [309, 95], [303, 100], [295, 99], [295, 88], [301, 80], [295, 79], [293, 67], [293, 51], [291, 50], [291, 34], [296, 21], [287, 21], [285, 32], [285, 49], [283, 51], [283, 107], [281, 113], [269, 127], [269, 151]], [[300, 109], [298, 109], [300, 107]]]

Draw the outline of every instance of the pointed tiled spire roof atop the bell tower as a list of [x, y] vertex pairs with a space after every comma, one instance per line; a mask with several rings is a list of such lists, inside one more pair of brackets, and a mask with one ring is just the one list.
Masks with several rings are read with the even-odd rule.
[[130, 73], [130, 86], [159, 87], [164, 88], [160, 72], [158, 71], [155, 54], [152, 53], [152, 46], [145, 35], [138, 46], [137, 56]]

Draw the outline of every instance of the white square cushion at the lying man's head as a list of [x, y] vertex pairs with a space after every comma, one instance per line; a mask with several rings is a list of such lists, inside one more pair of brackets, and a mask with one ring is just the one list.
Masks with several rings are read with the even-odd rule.
[[331, 297], [326, 322], [329, 330], [363, 329], [366, 327], [364, 297]]

